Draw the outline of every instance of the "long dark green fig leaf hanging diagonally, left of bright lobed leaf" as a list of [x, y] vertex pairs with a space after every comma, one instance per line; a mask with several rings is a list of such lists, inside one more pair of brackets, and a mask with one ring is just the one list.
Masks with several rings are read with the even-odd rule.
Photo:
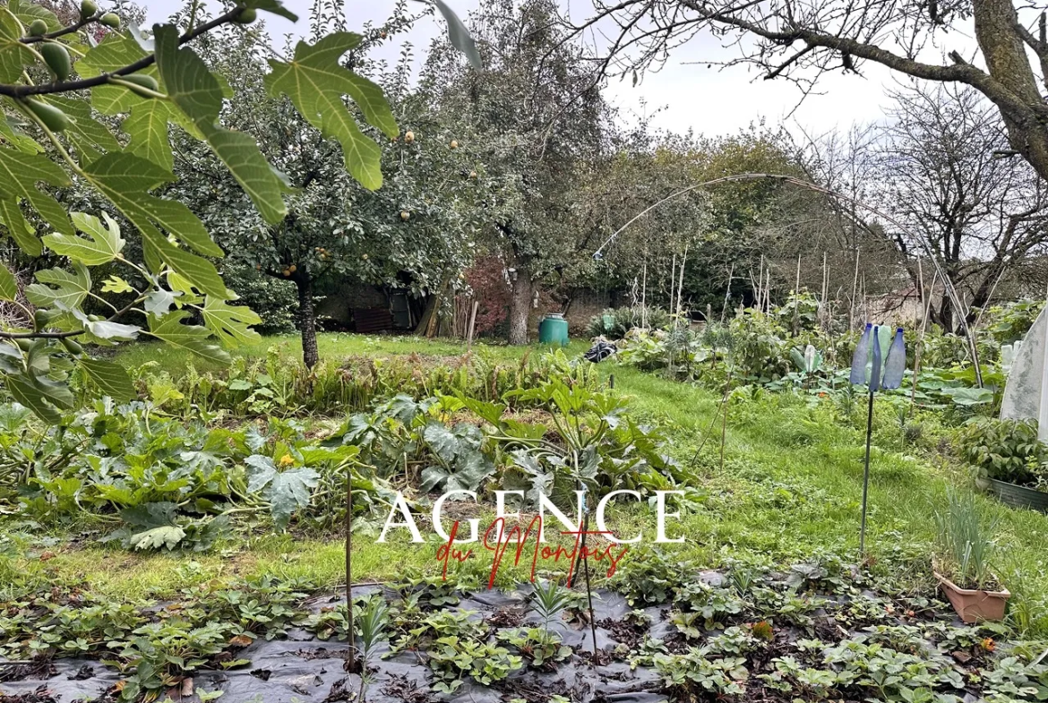
[[156, 66], [171, 101], [193, 120], [208, 145], [250, 196], [263, 219], [276, 224], [287, 215], [287, 191], [250, 135], [217, 125], [222, 88], [203, 60], [189, 47], [178, 47], [178, 30], [171, 24], [153, 25]]

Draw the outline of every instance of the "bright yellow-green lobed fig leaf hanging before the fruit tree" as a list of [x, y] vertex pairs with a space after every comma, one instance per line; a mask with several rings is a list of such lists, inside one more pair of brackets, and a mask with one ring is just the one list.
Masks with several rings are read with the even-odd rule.
[[368, 122], [387, 136], [396, 136], [398, 130], [381, 89], [339, 63], [359, 43], [359, 35], [348, 31], [328, 35], [312, 45], [299, 42], [289, 63], [269, 60], [272, 71], [265, 84], [270, 95], [286, 94], [310, 125], [337, 139], [346, 168], [362, 185], [375, 190], [383, 184], [378, 145], [361, 132], [343, 95], [352, 96]]

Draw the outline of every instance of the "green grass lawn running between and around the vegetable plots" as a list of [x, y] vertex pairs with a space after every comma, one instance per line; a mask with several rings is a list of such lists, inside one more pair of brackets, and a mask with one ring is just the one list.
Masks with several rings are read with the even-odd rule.
[[[268, 337], [242, 353], [262, 355], [275, 344], [286, 346], [288, 354], [298, 353], [293, 337]], [[577, 354], [585, 347], [573, 343], [568, 351]], [[121, 360], [129, 365], [155, 360], [173, 374], [184, 368], [184, 358], [177, 352], [165, 348], [162, 354], [157, 353], [160, 349], [137, 345], [123, 352]], [[507, 360], [522, 354], [519, 348], [503, 346], [476, 345], [475, 350]], [[453, 355], [463, 351], [463, 345], [415, 337], [321, 336], [322, 358]], [[858, 559], [864, 455], [859, 420], [843, 422], [827, 403], [808, 408], [789, 395], [736, 399], [728, 416], [721, 468], [719, 422], [711, 427], [719, 395], [610, 363], [598, 369], [604, 375], [614, 374], [616, 391], [632, 396], [634, 412], [669, 426], [674, 440], [670, 453], [679, 462], [690, 464], [702, 437], [711, 433], [695, 464], [696, 487], [705, 493], [705, 502], [671, 527], [671, 532], [679, 529], [686, 543], [662, 545], [662, 549], [708, 567], [733, 559], [785, 565], [826, 553]], [[878, 408], [867, 535], [870, 561], [875, 571], [892, 576], [901, 588], [923, 585], [931, 592], [929, 554], [935, 534], [934, 512], [944, 504], [952, 486], [969, 489], [969, 479], [935, 452], [904, 445], [896, 424], [893, 411], [887, 405]], [[1042, 595], [1048, 592], [1044, 549], [1048, 518], [1013, 510], [988, 498], [982, 503], [986, 515], [1000, 521], [1000, 575], [1019, 592], [1016, 602], [1028, 611], [1028, 623], [1048, 632], [1046, 598]], [[631, 528], [630, 534], [638, 525], [654, 529], [649, 511], [627, 510], [615, 519], [616, 527]], [[401, 530], [399, 539], [405, 542], [391, 540], [385, 545], [375, 544], [373, 534], [356, 537], [354, 577], [390, 579], [410, 567], [438, 570], [438, 543], [411, 545], [405, 535]], [[28, 569], [47, 570], [125, 597], [162, 596], [221, 575], [300, 575], [328, 586], [343, 578], [343, 548], [334, 536], [319, 540], [269, 534], [226, 548], [225, 552], [199, 555], [129, 554], [95, 547], [59, 549], [46, 564], [31, 564]], [[623, 568], [629, 568], [629, 558]], [[490, 564], [489, 559], [485, 563]], [[1020, 609], [1016, 612], [1022, 613]], [[1041, 618], [1040, 624], [1033, 622], [1036, 618]]]

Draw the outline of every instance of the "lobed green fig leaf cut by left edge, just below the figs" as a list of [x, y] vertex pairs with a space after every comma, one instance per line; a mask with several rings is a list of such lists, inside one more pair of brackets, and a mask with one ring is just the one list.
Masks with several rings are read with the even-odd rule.
[[[40, 217], [64, 235], [72, 235], [72, 224], [65, 207], [51, 196], [37, 190], [37, 183], [48, 185], [69, 185], [71, 181], [66, 172], [43, 154], [26, 154], [14, 149], [0, 148], [0, 196], [2, 200], [14, 202], [26, 200]], [[12, 228], [13, 216], [4, 212], [4, 221]], [[23, 218], [24, 221], [24, 218]], [[19, 246], [23, 242], [16, 237]], [[36, 241], [36, 238], [34, 238]], [[40, 242], [36, 241], [35, 251], [25, 250], [29, 256], [40, 256]]]

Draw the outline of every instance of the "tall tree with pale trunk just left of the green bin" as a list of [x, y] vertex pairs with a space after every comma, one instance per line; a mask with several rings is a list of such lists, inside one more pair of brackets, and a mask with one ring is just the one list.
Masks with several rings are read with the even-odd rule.
[[472, 34], [485, 70], [436, 44], [422, 86], [440, 119], [477, 140], [489, 180], [488, 245], [511, 286], [509, 342], [526, 344], [538, 284], [574, 256], [577, 169], [604, 149], [607, 107], [588, 57], [550, 0], [484, 0]]

